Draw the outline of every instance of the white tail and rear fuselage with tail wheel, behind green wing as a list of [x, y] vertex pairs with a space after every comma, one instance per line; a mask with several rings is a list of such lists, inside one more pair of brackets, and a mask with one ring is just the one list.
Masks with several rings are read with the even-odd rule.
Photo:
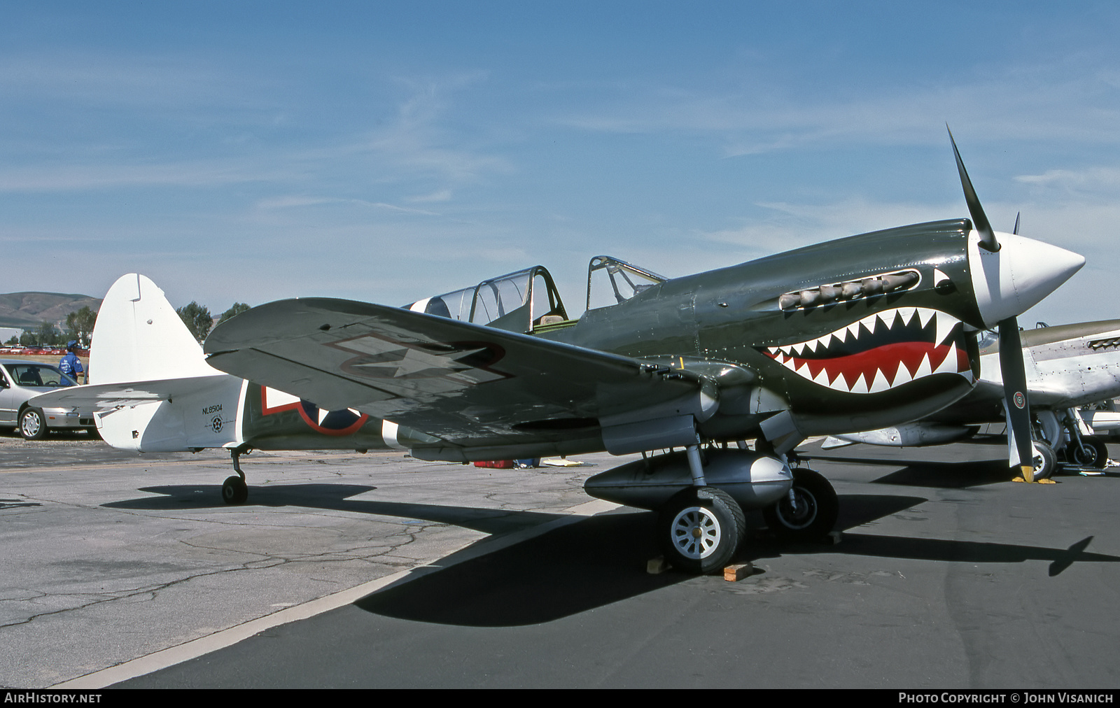
[[230, 449], [237, 476], [223, 499], [248, 496], [239, 457], [250, 449], [405, 449], [393, 423], [352, 410], [326, 411], [206, 363], [162, 290], [137, 273], [105, 294], [90, 351], [93, 383], [53, 391], [36, 406], [88, 406], [102, 438], [140, 453]]

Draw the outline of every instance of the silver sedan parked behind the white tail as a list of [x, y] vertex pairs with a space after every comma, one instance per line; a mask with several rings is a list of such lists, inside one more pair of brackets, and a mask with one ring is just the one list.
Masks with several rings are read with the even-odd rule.
[[36, 408], [28, 399], [58, 386], [77, 385], [57, 366], [20, 360], [0, 360], [0, 427], [17, 427], [28, 440], [41, 440], [48, 430], [96, 432], [93, 412], [77, 408]]

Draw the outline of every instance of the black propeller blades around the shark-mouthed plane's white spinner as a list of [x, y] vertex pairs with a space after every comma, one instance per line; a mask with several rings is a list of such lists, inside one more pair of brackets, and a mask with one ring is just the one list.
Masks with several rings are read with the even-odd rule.
[[[945, 125], [949, 130], [949, 125]], [[980, 198], [977, 197], [969, 173], [964, 169], [964, 161], [956, 149], [956, 141], [953, 140], [953, 131], [949, 131], [949, 141], [953, 145], [953, 155], [956, 156], [956, 171], [961, 175], [961, 187], [964, 189], [964, 201], [969, 205], [969, 214], [972, 216], [972, 226], [980, 235], [980, 248], [990, 253], [999, 251], [999, 241], [996, 240], [996, 232], [988, 221], [988, 216], [980, 206]], [[1015, 217], [1015, 233], [1019, 233], [1019, 217]], [[999, 369], [1004, 379], [1004, 408], [1007, 411], [1007, 445], [1010, 465], [1018, 465], [1023, 472], [1023, 478], [1034, 482], [1035, 475], [1035, 449], [1030, 436], [1030, 401], [1027, 398], [1027, 372], [1023, 363], [1023, 341], [1019, 338], [1019, 323], [1016, 317], [1008, 317], [999, 320]]]

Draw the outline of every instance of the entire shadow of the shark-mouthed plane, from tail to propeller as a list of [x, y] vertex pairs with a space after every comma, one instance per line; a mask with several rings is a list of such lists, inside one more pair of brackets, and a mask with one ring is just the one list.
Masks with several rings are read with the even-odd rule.
[[[353, 484], [293, 484], [252, 487], [252, 506], [304, 506], [449, 523], [485, 533], [507, 533], [566, 514], [348, 500], [376, 487]], [[103, 506], [156, 511], [224, 507], [215, 486], [143, 487], [160, 494], [111, 502]], [[838, 529], [857, 529], [927, 501], [921, 496], [841, 494]], [[756, 519], [756, 514], [748, 518]], [[438, 624], [517, 626], [550, 622], [692, 578], [680, 572], [650, 575], [646, 562], [659, 556], [656, 515], [631, 509], [588, 516], [504, 549], [472, 557], [473, 547], [449, 556], [435, 572], [405, 578], [355, 605], [366, 612]], [[760, 524], [759, 524], [760, 525]], [[486, 542], [484, 539], [479, 542]], [[739, 561], [794, 555], [843, 553], [943, 562], [1049, 561], [1056, 576], [1075, 561], [1116, 562], [1120, 558], [1086, 553], [1092, 537], [1067, 549], [974, 541], [950, 541], [844, 533], [836, 546], [781, 541], [759, 530], [745, 543]], [[467, 560], [456, 562], [456, 556]]]

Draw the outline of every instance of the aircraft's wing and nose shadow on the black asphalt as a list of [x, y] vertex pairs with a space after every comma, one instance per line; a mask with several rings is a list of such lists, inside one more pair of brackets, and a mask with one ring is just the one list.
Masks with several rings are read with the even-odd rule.
[[[922, 497], [841, 495], [840, 528], [852, 528], [925, 501]], [[379, 615], [466, 626], [516, 626], [559, 620], [691, 579], [647, 575], [655, 514], [599, 514], [438, 572], [407, 579], [355, 605]], [[791, 555], [843, 553], [943, 562], [1051, 561], [1056, 576], [1074, 561], [1116, 562], [1086, 553], [1089, 537], [1067, 549], [846, 533], [837, 546], [791, 543], [763, 534], [744, 544], [738, 560]], [[454, 561], [454, 557], [448, 558]]]

